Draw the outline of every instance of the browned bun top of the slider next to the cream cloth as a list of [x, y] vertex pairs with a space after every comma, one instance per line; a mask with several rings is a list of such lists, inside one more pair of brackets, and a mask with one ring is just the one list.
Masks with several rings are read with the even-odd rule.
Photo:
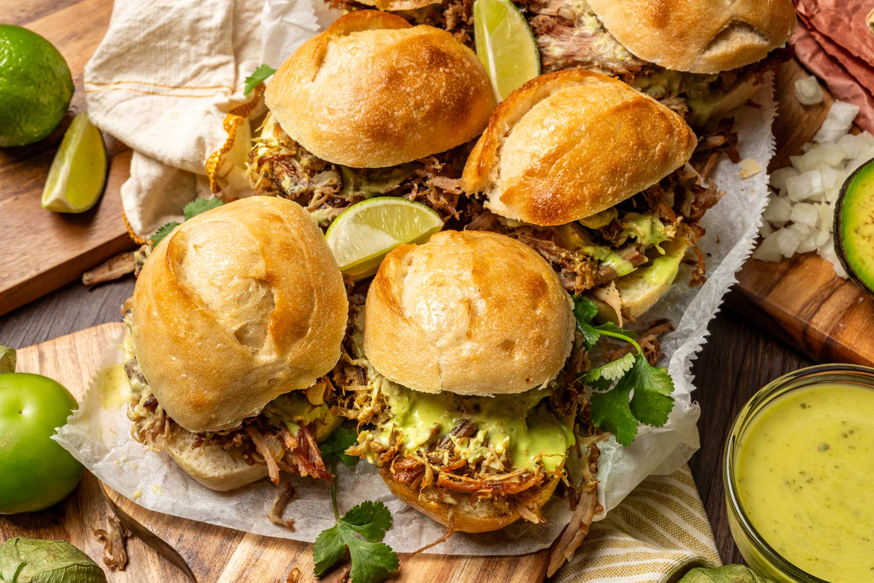
[[274, 74], [267, 107], [319, 158], [378, 168], [478, 136], [495, 107], [473, 51], [432, 26], [380, 11], [337, 18]]

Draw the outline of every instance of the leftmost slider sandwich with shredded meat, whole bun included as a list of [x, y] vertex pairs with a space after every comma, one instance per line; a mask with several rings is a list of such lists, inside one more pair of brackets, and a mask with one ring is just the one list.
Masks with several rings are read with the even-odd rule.
[[236, 200], [152, 249], [125, 313], [132, 434], [215, 490], [279, 472], [331, 480], [349, 304], [322, 232], [290, 200]]

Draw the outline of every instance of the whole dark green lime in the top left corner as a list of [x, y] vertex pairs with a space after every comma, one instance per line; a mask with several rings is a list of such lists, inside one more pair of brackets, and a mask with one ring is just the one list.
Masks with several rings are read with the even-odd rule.
[[36, 32], [0, 25], [0, 147], [32, 144], [52, 133], [73, 97], [73, 75]]

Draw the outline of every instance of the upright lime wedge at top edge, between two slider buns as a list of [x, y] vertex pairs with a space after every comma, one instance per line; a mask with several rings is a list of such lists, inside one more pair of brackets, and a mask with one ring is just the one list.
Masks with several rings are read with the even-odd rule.
[[489, 72], [500, 102], [540, 74], [540, 53], [522, 12], [509, 0], [474, 3], [476, 56]]

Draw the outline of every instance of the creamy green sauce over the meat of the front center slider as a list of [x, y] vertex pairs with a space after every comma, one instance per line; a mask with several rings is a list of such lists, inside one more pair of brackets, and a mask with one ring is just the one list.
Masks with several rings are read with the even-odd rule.
[[[553, 471], [564, 463], [568, 447], [574, 444], [571, 427], [541, 403], [549, 395], [546, 390], [463, 397], [448, 392], [423, 393], [388, 381], [382, 390], [407, 451], [427, 447], [464, 419], [475, 425], [476, 433], [470, 438], [451, 439], [456, 452], [471, 462], [486, 457], [491, 444], [496, 453], [506, 455], [513, 469], [530, 467], [542, 453], [541, 464]], [[391, 425], [380, 427], [376, 439], [387, 445], [391, 429]]]

